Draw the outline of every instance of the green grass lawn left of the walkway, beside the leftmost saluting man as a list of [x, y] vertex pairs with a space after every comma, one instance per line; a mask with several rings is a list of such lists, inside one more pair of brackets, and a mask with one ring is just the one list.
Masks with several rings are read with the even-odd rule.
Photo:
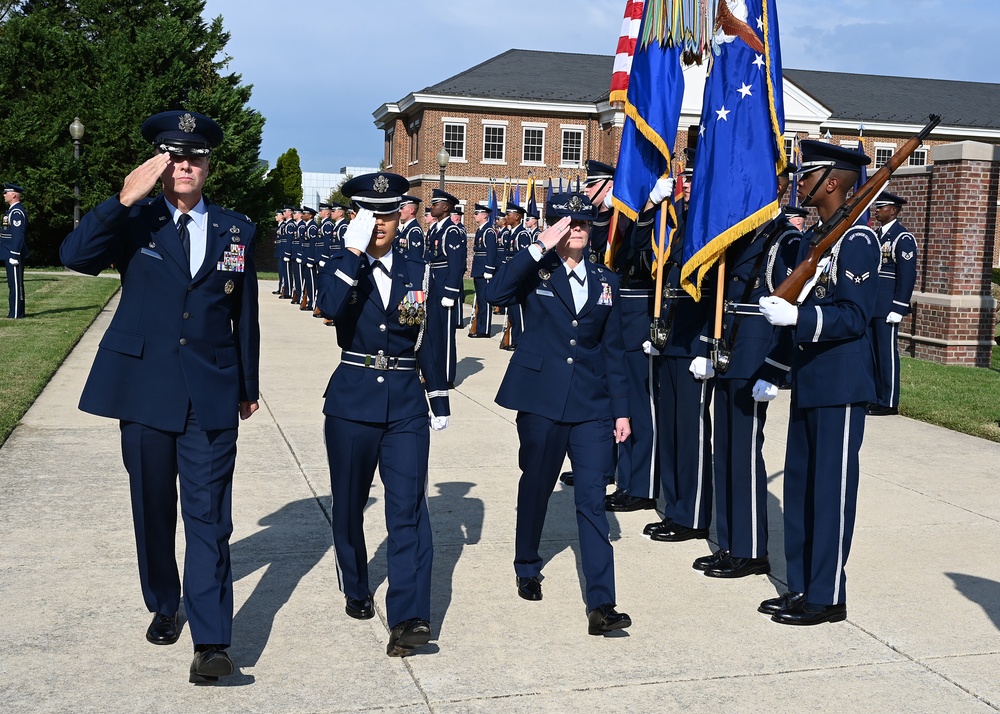
[[27, 317], [0, 319], [0, 444], [120, 285], [59, 272], [24, 276]]

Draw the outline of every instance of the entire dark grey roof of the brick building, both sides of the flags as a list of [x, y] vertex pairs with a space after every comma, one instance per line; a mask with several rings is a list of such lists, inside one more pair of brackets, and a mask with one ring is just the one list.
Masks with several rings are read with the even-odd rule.
[[[615, 58], [507, 50], [421, 93], [596, 104], [610, 94]], [[784, 68], [785, 79], [833, 112], [833, 119], [1000, 129], [1000, 84], [883, 77]]]

